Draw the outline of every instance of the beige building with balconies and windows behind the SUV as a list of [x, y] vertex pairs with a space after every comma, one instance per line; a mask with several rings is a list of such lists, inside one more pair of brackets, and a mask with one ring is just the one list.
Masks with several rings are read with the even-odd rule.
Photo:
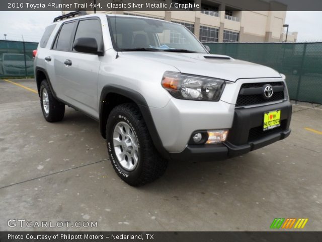
[[[202, 43], [282, 42], [286, 11], [246, 11], [222, 0], [165, 0], [170, 3], [196, 3], [201, 11], [116, 11], [116, 14], [163, 19], [186, 26]], [[262, 0], [255, 0], [259, 3]], [[279, 3], [274, 2], [278, 5]], [[285, 8], [286, 9], [286, 8]], [[88, 12], [93, 13], [93, 12]], [[114, 12], [97, 12], [110, 13]], [[296, 42], [297, 33], [288, 34], [287, 42]]]

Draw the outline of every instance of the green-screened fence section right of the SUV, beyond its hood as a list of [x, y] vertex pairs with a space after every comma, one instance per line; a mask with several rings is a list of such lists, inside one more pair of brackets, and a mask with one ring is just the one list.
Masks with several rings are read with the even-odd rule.
[[225, 54], [286, 75], [290, 98], [322, 104], [322, 43], [210, 43]]

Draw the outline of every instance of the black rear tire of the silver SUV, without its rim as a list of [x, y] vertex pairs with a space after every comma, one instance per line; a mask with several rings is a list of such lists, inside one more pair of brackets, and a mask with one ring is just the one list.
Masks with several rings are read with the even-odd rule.
[[[44, 89], [45, 89], [45, 91], [47, 91], [47, 95], [48, 95], [48, 101], [49, 101], [48, 113], [45, 111], [44, 105], [43, 105]], [[50, 122], [50, 123], [59, 122], [63, 119], [64, 114], [65, 114], [65, 104], [58, 101], [52, 95], [52, 92], [50, 90], [50, 87], [49, 87], [46, 79], [44, 79], [40, 84], [40, 105], [41, 105], [42, 113], [48, 122]]]

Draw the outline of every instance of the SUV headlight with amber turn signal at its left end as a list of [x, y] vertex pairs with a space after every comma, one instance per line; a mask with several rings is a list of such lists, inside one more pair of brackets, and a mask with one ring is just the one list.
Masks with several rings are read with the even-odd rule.
[[219, 101], [225, 82], [220, 79], [165, 72], [162, 86], [175, 98]]

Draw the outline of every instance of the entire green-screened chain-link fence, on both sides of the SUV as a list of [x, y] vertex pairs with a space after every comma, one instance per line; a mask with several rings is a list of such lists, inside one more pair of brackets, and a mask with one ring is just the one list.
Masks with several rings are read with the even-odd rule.
[[[209, 43], [210, 52], [286, 75], [290, 98], [322, 104], [322, 43]], [[38, 43], [0, 40], [0, 78], [32, 77]]]

